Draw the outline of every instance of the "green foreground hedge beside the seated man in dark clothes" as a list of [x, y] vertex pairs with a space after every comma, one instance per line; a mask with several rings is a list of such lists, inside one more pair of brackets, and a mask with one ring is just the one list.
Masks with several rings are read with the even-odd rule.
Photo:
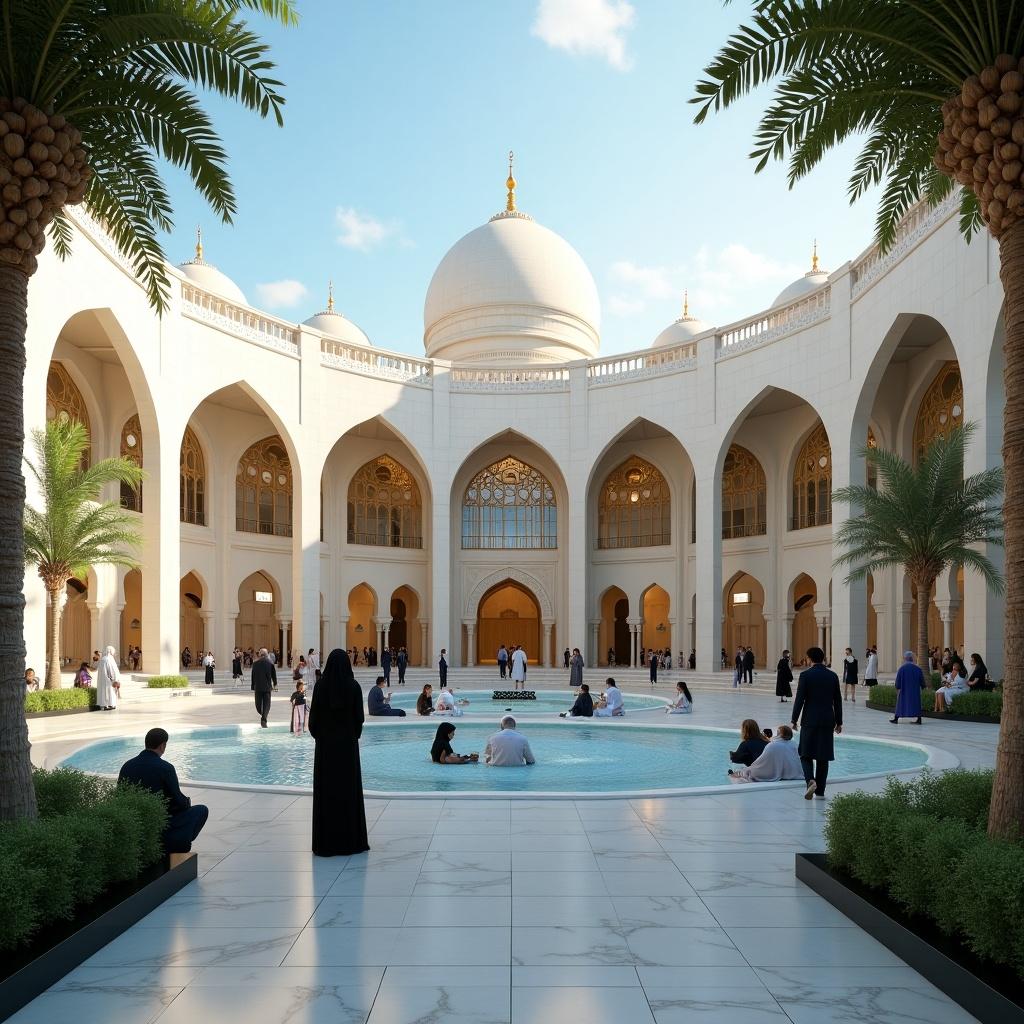
[[156, 794], [70, 768], [37, 769], [33, 780], [39, 818], [0, 823], [0, 950], [163, 856], [167, 808]]

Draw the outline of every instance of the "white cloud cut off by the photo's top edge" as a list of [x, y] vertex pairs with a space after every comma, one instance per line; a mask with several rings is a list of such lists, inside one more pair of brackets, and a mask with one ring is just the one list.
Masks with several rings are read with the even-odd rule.
[[532, 35], [557, 50], [600, 56], [618, 71], [629, 71], [626, 33], [636, 8], [626, 0], [540, 0]]

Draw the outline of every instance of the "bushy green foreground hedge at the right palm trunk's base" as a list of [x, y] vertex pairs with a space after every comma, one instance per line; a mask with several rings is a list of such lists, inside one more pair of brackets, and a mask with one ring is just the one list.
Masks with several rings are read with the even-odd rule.
[[828, 862], [1024, 979], [1024, 843], [985, 834], [991, 771], [890, 778], [835, 797]]

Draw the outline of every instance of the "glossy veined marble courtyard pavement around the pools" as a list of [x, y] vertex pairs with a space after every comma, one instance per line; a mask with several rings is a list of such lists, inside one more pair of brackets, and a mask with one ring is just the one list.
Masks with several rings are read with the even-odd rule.
[[[692, 724], [787, 720], [788, 705], [767, 684], [756, 689], [695, 692]], [[994, 726], [894, 727], [845, 707], [848, 733], [919, 739], [967, 767], [993, 762]], [[248, 693], [126, 705], [33, 721], [33, 753], [52, 765], [92, 738], [141, 737], [159, 723], [173, 762], [176, 725], [252, 720]], [[829, 794], [880, 786], [830, 784]], [[373, 800], [370, 853], [326, 860], [309, 852], [309, 797], [190, 795], [211, 810], [196, 844], [198, 881], [12, 1022], [974, 1020], [796, 880], [794, 854], [823, 848], [827, 805], [804, 801], [802, 787]]]

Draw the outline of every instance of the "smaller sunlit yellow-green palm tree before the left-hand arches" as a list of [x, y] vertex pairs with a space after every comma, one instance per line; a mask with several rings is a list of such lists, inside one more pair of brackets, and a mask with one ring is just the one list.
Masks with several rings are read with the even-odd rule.
[[54, 420], [45, 430], [34, 430], [35, 463], [26, 463], [46, 506], [25, 506], [25, 561], [35, 565], [50, 605], [50, 633], [46, 643], [46, 689], [60, 688], [60, 596], [68, 581], [92, 565], [138, 562], [128, 548], [138, 548], [142, 537], [135, 517], [120, 502], [100, 502], [104, 484], [127, 483], [138, 489], [142, 470], [131, 460], [103, 459], [86, 466], [89, 433], [75, 420]]

